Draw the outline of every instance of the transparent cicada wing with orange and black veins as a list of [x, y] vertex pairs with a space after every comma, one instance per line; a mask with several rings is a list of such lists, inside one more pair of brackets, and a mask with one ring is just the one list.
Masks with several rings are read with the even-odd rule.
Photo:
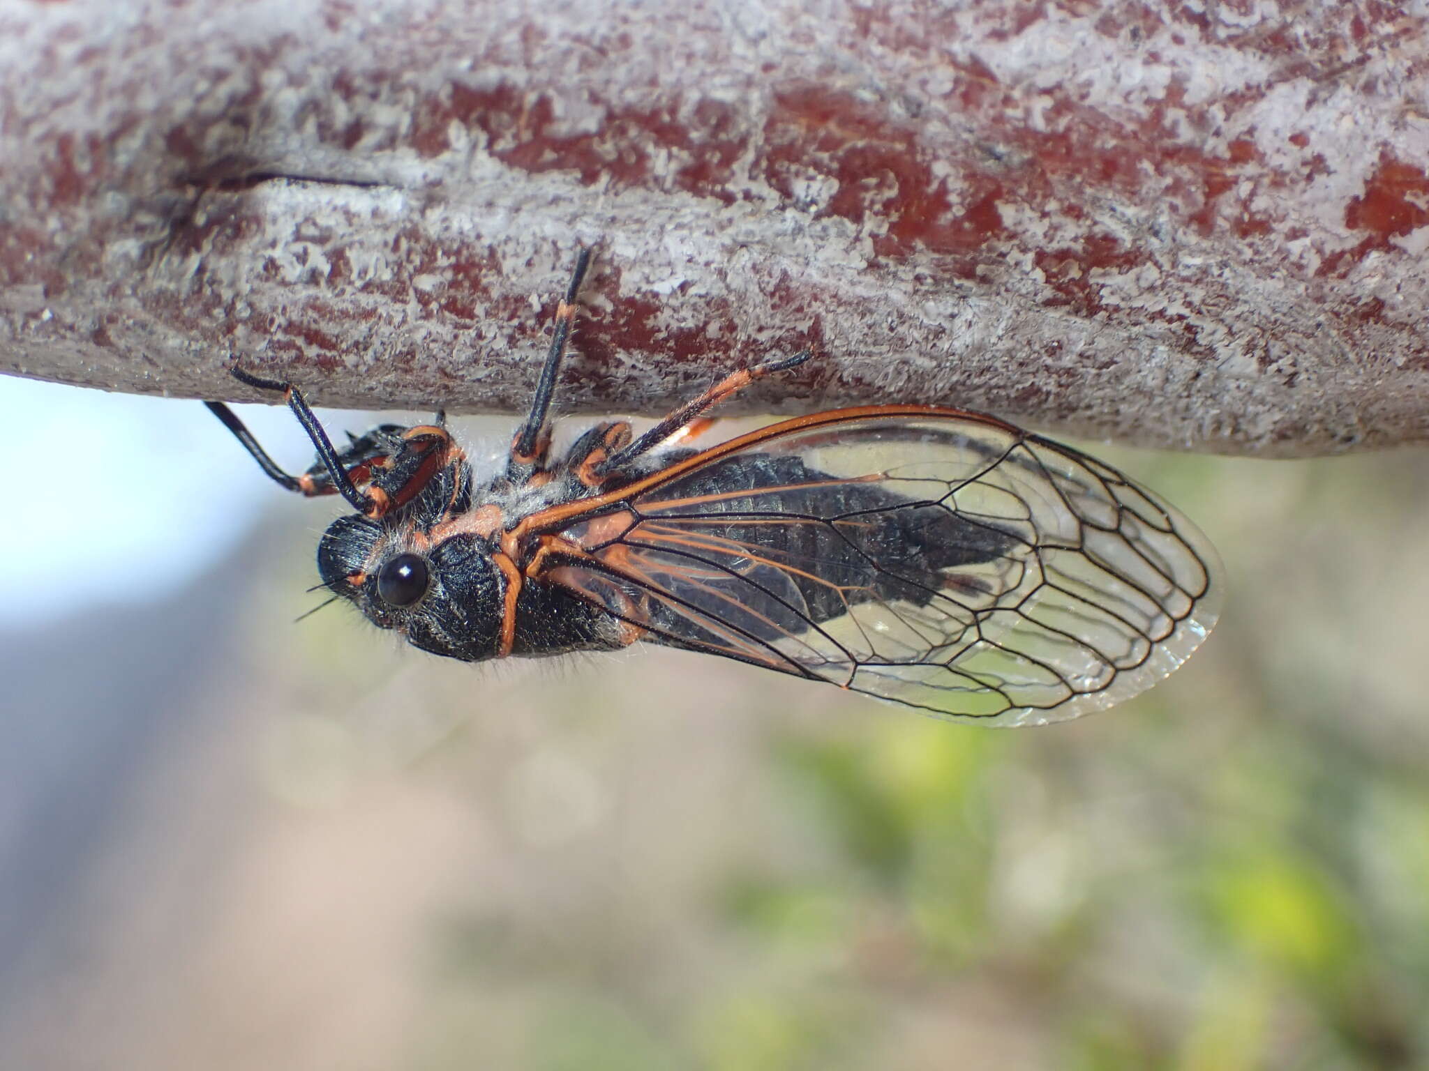
[[567, 526], [552, 578], [646, 640], [999, 725], [1120, 703], [1215, 624], [1208, 540], [1069, 447], [936, 410], [736, 444]]

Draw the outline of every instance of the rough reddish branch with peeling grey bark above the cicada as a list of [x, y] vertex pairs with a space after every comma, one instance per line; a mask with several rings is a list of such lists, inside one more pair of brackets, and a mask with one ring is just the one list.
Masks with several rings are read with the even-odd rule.
[[0, 0], [0, 368], [1429, 438], [1423, 3]]

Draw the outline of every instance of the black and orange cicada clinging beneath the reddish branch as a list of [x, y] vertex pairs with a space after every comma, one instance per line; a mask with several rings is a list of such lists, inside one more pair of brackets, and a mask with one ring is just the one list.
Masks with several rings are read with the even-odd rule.
[[339, 494], [323, 587], [414, 647], [464, 661], [653, 643], [835, 684], [930, 714], [1042, 724], [1163, 678], [1215, 624], [1215, 550], [1110, 466], [1003, 420], [867, 406], [703, 450], [706, 413], [809, 353], [739, 370], [643, 434], [596, 424], [553, 456], [550, 407], [589, 264], [576, 261], [504, 466], [480, 474], [446, 428], [382, 424], [273, 480]]

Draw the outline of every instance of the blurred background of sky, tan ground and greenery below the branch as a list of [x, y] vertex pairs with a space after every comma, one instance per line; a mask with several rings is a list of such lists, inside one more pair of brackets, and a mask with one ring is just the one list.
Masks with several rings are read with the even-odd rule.
[[993, 731], [294, 623], [340, 504], [201, 406], [0, 377], [0, 420], [6, 1067], [1429, 1067], [1423, 453], [1092, 447], [1220, 548], [1222, 623]]

